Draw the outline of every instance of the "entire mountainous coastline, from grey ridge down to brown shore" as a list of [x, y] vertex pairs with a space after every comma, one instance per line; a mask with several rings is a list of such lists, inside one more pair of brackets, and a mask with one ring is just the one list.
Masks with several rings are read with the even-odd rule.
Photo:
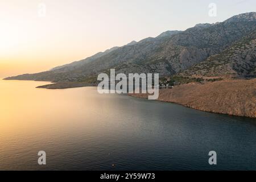
[[[96, 86], [98, 73], [159, 73], [160, 101], [256, 118], [256, 13], [167, 31], [46, 72], [5, 80], [51, 81], [39, 88]], [[143, 94], [132, 95], [145, 97]]]

